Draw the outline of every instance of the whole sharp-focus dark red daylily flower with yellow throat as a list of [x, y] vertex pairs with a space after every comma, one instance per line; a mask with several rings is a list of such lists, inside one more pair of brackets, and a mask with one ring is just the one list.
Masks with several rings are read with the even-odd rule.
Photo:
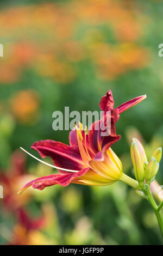
[[[114, 108], [113, 96], [109, 90], [99, 103], [104, 111], [103, 117], [91, 125], [88, 134], [87, 129], [83, 131], [82, 124], [79, 124], [76, 130], [70, 132], [70, 145], [49, 139], [35, 142], [32, 149], [36, 150], [41, 157], [50, 156], [54, 167], [59, 169], [60, 173], [30, 181], [20, 189], [19, 193], [30, 186], [39, 190], [55, 184], [67, 186], [70, 183], [106, 186], [120, 179], [122, 164], [110, 148], [121, 138], [120, 135], [116, 135], [115, 124], [121, 113], [144, 99], [146, 95], [136, 97]], [[107, 127], [110, 128], [110, 134], [102, 136], [100, 122], [105, 125], [108, 111], [111, 114], [110, 127]]]

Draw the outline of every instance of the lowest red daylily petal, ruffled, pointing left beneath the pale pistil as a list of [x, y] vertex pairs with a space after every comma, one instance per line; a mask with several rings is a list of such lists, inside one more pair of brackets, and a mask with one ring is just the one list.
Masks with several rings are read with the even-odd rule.
[[51, 174], [47, 176], [43, 176], [41, 178], [32, 180], [24, 185], [18, 193], [22, 193], [28, 187], [32, 186], [33, 188], [37, 188], [38, 190], [43, 190], [45, 187], [49, 187], [55, 184], [59, 184], [61, 186], [68, 186], [72, 179], [83, 176], [90, 168], [85, 168], [80, 170], [77, 173], [66, 173], [66, 174]]

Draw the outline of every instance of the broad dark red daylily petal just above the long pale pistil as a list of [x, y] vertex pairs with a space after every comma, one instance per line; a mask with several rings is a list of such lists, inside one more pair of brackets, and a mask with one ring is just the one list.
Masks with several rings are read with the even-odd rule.
[[31, 148], [35, 149], [41, 157], [52, 157], [54, 165], [58, 167], [73, 170], [81, 170], [85, 168], [78, 147], [46, 140], [35, 142]]

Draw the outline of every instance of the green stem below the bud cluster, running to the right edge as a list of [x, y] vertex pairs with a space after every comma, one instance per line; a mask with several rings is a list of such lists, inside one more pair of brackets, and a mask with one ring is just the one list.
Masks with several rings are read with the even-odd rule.
[[161, 215], [161, 212], [160, 212], [160, 209], [161, 209], [160, 205], [162, 203], [159, 206], [156, 204], [156, 202], [155, 202], [155, 200], [152, 196], [152, 193], [150, 191], [150, 188], [148, 188], [145, 193], [148, 197], [149, 203], [151, 204], [151, 206], [152, 206], [152, 208], [155, 212], [156, 218], [158, 219], [159, 227], [160, 227], [161, 234], [162, 234], [162, 237], [163, 237], [163, 218], [162, 218], [162, 215]]

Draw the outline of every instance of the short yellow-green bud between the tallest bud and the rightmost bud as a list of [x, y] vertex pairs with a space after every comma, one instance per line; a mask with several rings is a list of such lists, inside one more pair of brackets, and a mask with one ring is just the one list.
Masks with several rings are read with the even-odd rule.
[[159, 163], [156, 159], [151, 156], [151, 159], [147, 165], [146, 172], [145, 172], [145, 179], [147, 184], [151, 184], [154, 180], [155, 175], [158, 173], [159, 170]]

